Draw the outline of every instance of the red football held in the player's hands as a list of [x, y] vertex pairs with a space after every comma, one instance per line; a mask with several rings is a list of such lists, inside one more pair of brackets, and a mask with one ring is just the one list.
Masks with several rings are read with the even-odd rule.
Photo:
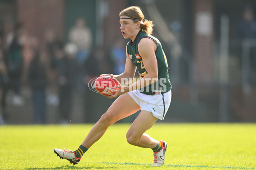
[[111, 96], [111, 94], [115, 94], [119, 89], [115, 88], [115, 86], [119, 85], [120, 83], [117, 81], [117, 79], [110, 76], [98, 77], [94, 82], [95, 89], [103, 96]]

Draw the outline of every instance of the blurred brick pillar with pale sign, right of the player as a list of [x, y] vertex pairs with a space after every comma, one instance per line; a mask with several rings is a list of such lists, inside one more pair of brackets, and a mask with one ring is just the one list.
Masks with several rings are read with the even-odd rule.
[[213, 14], [211, 0], [195, 0], [194, 3], [194, 57], [195, 77], [199, 83], [210, 83], [212, 71]]

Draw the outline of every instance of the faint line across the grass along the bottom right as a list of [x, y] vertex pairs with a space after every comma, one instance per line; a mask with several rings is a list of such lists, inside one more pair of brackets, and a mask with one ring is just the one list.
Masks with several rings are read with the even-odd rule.
[[[152, 165], [152, 164], [140, 164], [140, 163], [119, 163], [119, 162], [97, 162], [98, 164], [128, 164], [128, 165]], [[215, 167], [208, 165], [173, 165], [173, 164], [164, 164], [163, 166], [167, 167], [204, 167], [204, 168], [224, 168], [224, 169], [242, 169], [242, 170], [256, 170], [256, 167]]]

